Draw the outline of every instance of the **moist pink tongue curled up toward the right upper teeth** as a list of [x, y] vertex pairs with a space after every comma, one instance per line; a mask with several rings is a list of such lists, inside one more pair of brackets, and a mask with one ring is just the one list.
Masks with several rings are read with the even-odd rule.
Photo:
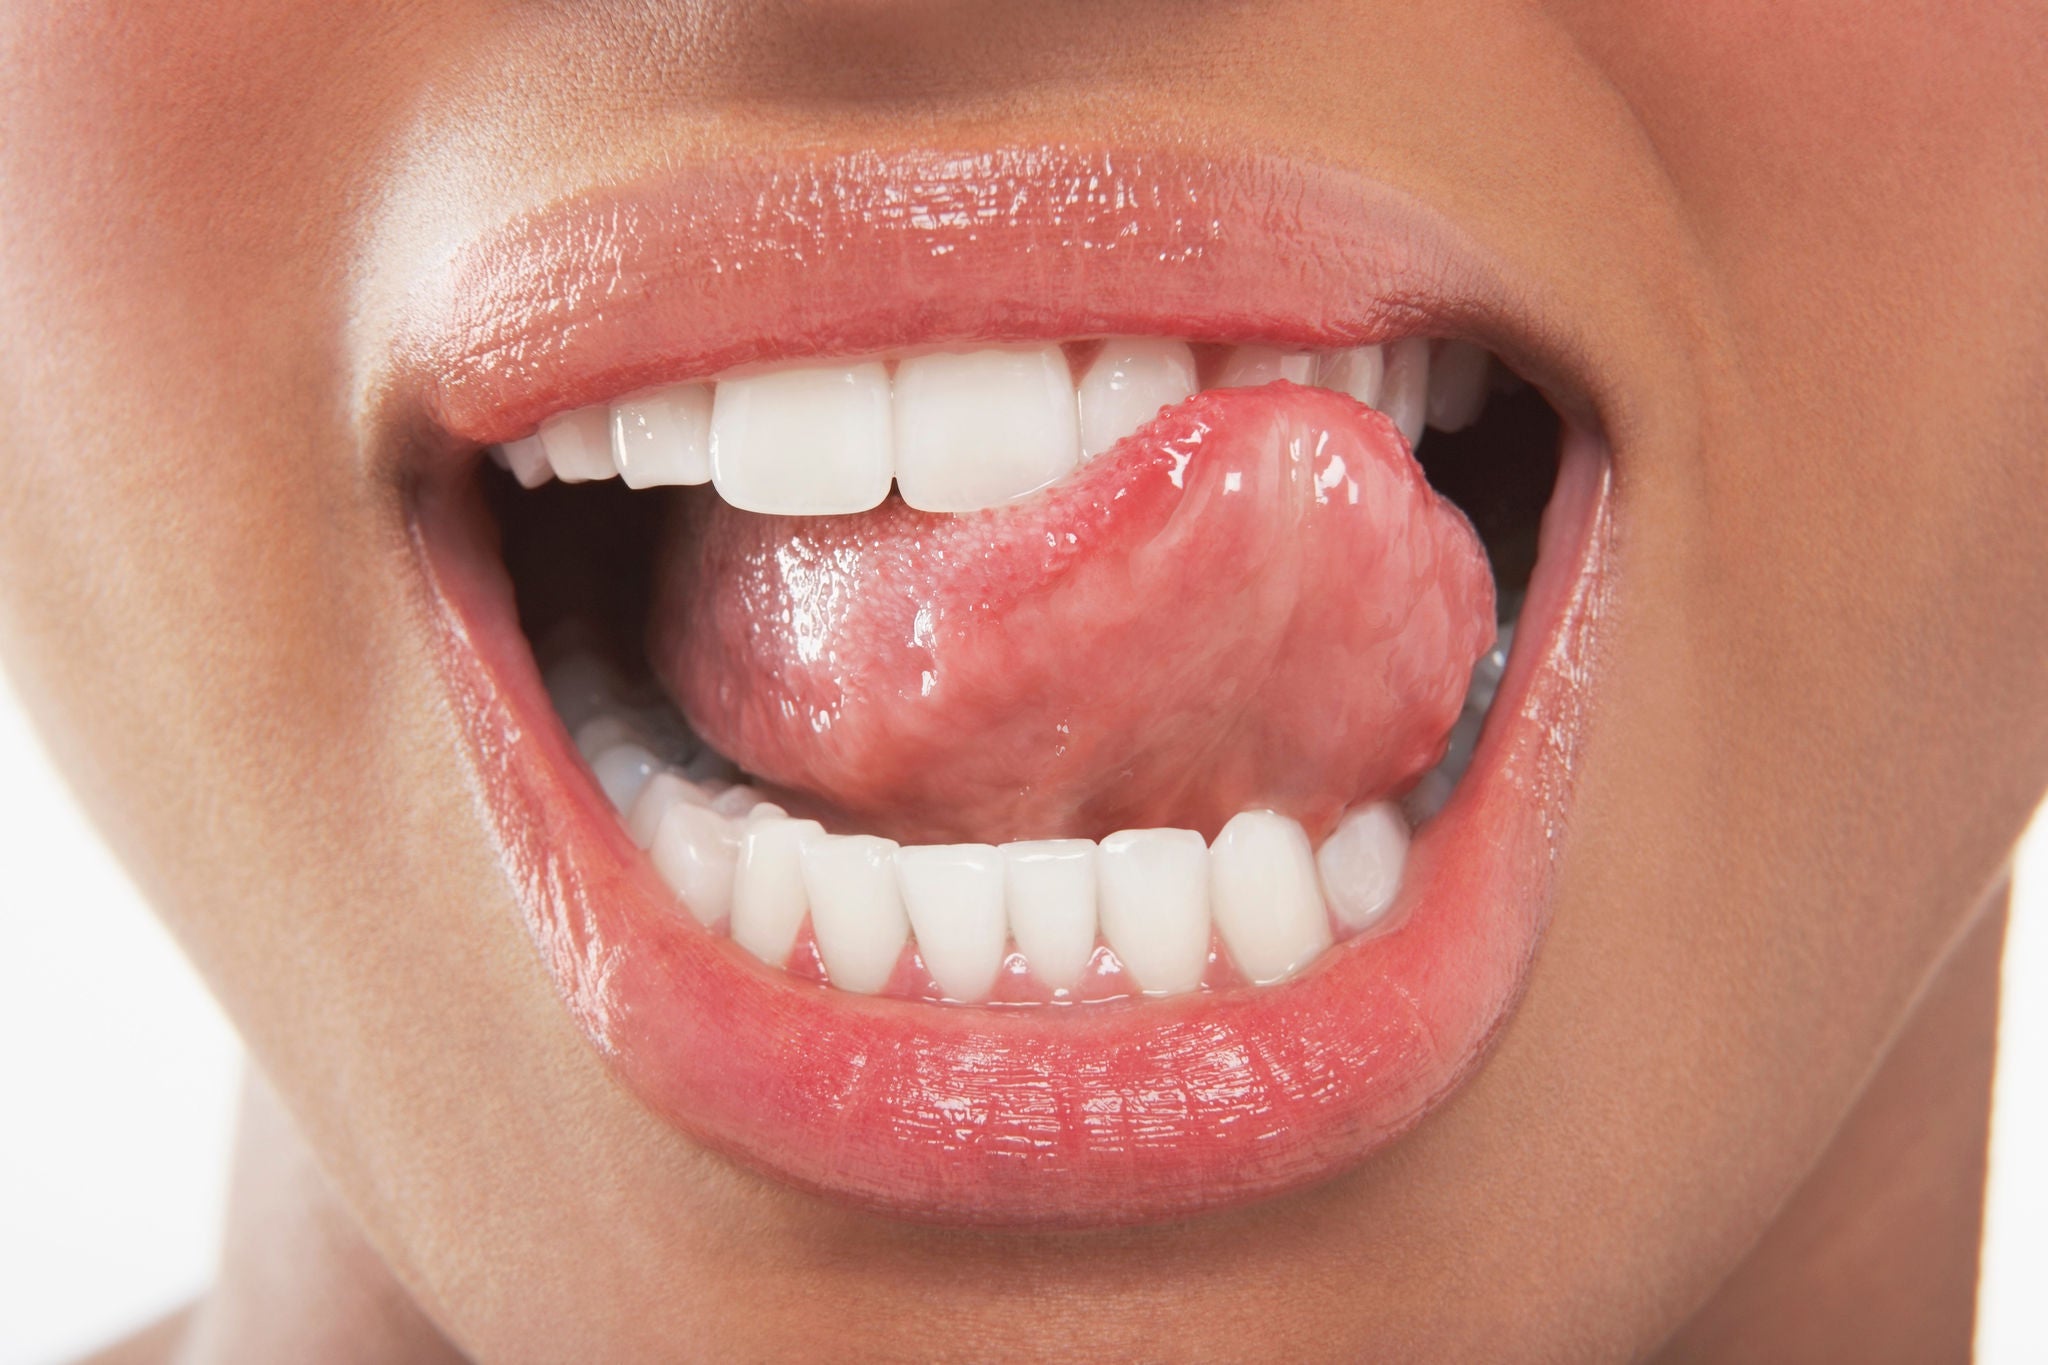
[[905, 841], [1313, 835], [1442, 755], [1493, 643], [1464, 516], [1325, 389], [1200, 393], [1022, 503], [664, 532], [651, 657], [696, 731], [827, 827]]

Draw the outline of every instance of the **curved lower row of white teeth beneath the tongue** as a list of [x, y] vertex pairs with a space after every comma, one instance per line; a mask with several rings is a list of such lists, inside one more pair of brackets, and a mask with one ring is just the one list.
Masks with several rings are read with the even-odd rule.
[[596, 655], [559, 659], [547, 690], [662, 882], [768, 966], [864, 995], [1094, 1001], [1272, 984], [1384, 929], [1411, 829], [1470, 765], [1511, 639], [1503, 624], [1475, 665], [1444, 759], [1399, 802], [1346, 810], [1315, 849], [1270, 810], [1214, 843], [1186, 829], [1004, 845], [834, 835], [745, 784], [674, 708], [627, 700]]

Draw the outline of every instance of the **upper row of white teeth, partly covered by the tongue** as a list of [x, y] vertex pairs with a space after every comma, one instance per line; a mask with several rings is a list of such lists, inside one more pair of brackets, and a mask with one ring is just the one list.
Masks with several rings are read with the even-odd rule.
[[[1409, 444], [1423, 420], [1456, 430], [1489, 381], [1477, 346], [1407, 338], [1335, 352], [1237, 346], [1217, 387], [1288, 379], [1378, 407]], [[748, 512], [829, 516], [879, 505], [891, 483], [924, 512], [1026, 497], [1196, 391], [1176, 340], [1110, 338], [1075, 383], [1061, 346], [989, 346], [803, 364], [635, 393], [580, 407], [506, 442], [526, 487], [625, 477], [631, 487], [713, 483]]]

